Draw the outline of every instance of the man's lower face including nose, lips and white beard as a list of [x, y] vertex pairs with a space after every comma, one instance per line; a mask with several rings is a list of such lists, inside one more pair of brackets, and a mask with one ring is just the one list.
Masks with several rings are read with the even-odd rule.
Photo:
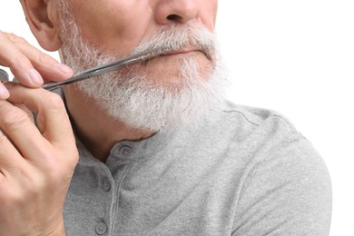
[[217, 0], [67, 0], [60, 9], [62, 52], [75, 71], [170, 48], [146, 63], [75, 84], [113, 119], [158, 131], [215, 108], [222, 85], [213, 34]]

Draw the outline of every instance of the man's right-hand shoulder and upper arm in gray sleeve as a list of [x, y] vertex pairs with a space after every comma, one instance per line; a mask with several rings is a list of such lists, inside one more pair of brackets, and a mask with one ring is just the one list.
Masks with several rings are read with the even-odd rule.
[[227, 102], [217, 123], [228, 133], [229, 158], [242, 163], [234, 235], [328, 234], [329, 172], [289, 119]]

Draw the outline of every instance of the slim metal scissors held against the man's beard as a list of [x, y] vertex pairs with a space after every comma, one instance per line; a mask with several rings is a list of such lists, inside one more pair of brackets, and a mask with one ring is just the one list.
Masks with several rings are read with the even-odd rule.
[[[100, 65], [95, 66], [91, 69], [82, 71], [65, 81], [45, 83], [42, 85], [42, 87], [48, 91], [54, 91], [55, 89], [61, 87], [64, 84], [72, 84], [72, 83], [75, 83], [78, 81], [83, 81], [83, 80], [89, 79], [93, 76], [117, 71], [125, 66], [130, 65], [130, 64], [135, 64], [135, 63], [139, 63], [139, 62], [141, 63], [141, 62], [147, 61], [147, 60], [151, 59], [152, 57], [156, 57], [158, 55], [164, 54], [165, 51], [166, 51], [166, 48], [159, 47], [159, 48], [155, 48], [152, 50], [144, 51], [139, 54], [128, 55], [128, 56], [120, 58], [118, 60], [114, 60], [112, 62], [108, 62], [105, 64], [100, 64]], [[1, 70], [1, 69], [0, 69], [0, 80], [1, 81], [8, 81], [8, 74], [4, 70]], [[14, 80], [15, 80], [15, 78], [14, 78]]]

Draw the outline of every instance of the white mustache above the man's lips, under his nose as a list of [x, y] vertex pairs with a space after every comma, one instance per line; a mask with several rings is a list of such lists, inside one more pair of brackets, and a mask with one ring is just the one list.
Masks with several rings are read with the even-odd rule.
[[200, 50], [213, 61], [217, 52], [216, 36], [202, 23], [188, 25], [167, 25], [155, 31], [152, 36], [145, 37], [134, 48], [133, 54], [146, 50], [162, 49], [162, 53], [192, 47]]

